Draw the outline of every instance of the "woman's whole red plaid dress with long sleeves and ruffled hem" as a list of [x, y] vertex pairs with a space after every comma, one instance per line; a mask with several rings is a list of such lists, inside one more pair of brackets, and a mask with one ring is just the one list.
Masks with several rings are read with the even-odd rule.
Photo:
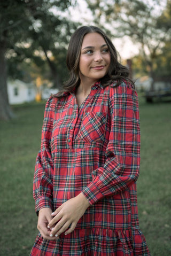
[[32, 256], [149, 256], [138, 226], [140, 131], [136, 92], [126, 83], [91, 87], [80, 108], [74, 93], [50, 97], [36, 159], [36, 211], [55, 211], [81, 191], [91, 206], [68, 235], [36, 237]]

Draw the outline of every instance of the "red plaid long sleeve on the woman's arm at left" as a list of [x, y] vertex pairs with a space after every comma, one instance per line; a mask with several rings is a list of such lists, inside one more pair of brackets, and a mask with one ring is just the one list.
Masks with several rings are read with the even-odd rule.
[[51, 157], [50, 141], [54, 110], [55, 104], [53, 98], [50, 97], [45, 106], [41, 150], [36, 158], [34, 173], [33, 197], [35, 199], [36, 212], [40, 211], [43, 207], [52, 208], [53, 160]]

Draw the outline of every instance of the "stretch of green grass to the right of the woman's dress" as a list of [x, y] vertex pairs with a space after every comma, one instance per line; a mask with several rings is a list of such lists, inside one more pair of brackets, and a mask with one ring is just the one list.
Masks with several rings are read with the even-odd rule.
[[171, 102], [140, 100], [139, 222], [152, 256], [171, 255]]

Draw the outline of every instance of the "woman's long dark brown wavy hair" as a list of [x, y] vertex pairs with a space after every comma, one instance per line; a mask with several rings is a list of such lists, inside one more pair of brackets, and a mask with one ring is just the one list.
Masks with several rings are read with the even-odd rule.
[[79, 75], [79, 61], [81, 54], [81, 46], [83, 38], [86, 34], [98, 33], [103, 36], [111, 55], [111, 63], [108, 68], [107, 74], [100, 79], [103, 86], [108, 86], [108, 84], [116, 81], [118, 86], [121, 81], [128, 81], [134, 86], [134, 82], [129, 78], [129, 70], [126, 66], [123, 66], [118, 61], [118, 53], [108, 36], [103, 32], [102, 29], [95, 26], [83, 26], [75, 30], [71, 37], [68, 45], [66, 64], [69, 70], [69, 79], [64, 84], [64, 91], [71, 92], [76, 86], [80, 84]]

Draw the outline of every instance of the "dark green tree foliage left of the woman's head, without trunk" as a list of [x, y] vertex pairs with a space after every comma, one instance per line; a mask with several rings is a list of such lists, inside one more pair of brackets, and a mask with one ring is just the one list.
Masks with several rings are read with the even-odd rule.
[[[6, 4], [7, 2], [9, 3]], [[9, 10], [4, 16], [10, 18], [2, 17], [1, 28], [7, 28], [9, 66], [26, 59], [27, 62], [31, 59], [37, 65], [44, 65], [46, 60], [52, 79], [59, 87], [60, 80], [63, 80], [63, 71], [66, 69], [65, 65], [61, 68], [61, 65], [57, 64], [64, 60], [68, 36], [72, 27], [75, 27], [71, 21], [61, 16], [61, 13], [67, 11], [70, 1], [34, 0], [4, 3], [3, 7], [6, 6]], [[10, 75], [13, 75], [13, 72]]]

